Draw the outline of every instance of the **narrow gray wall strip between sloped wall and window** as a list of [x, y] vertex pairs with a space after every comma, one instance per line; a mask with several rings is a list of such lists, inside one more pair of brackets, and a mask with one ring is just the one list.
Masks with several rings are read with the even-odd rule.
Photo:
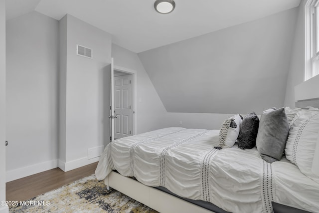
[[287, 77], [284, 105], [290, 107], [295, 107], [295, 86], [304, 82], [305, 78], [305, 3], [306, 0], [302, 0], [298, 7], [298, 18]]

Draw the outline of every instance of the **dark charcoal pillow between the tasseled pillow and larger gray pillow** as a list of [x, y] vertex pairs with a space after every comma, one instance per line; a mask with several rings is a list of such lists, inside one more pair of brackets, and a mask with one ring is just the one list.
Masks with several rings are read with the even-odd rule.
[[249, 113], [240, 124], [238, 135], [238, 147], [240, 149], [252, 149], [256, 145], [259, 118], [255, 112]]

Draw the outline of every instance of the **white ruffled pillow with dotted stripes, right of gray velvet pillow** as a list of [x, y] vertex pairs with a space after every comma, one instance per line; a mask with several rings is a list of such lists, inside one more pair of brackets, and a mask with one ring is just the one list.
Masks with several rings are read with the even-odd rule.
[[286, 158], [296, 164], [300, 171], [319, 183], [312, 172], [319, 132], [319, 111], [302, 110], [296, 114], [286, 143]]

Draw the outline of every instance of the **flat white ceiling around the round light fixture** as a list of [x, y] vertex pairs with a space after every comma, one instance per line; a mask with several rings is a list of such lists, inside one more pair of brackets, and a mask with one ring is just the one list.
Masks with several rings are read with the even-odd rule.
[[112, 42], [139, 53], [262, 18], [300, 0], [175, 0], [168, 14], [155, 0], [6, 0], [6, 19], [38, 11], [60, 20], [66, 13], [112, 34]]

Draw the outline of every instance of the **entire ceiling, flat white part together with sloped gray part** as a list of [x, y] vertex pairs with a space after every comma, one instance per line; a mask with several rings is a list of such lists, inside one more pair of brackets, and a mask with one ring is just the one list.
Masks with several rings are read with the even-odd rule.
[[113, 43], [140, 52], [168, 112], [261, 113], [283, 105], [291, 8], [300, 0], [175, 0], [166, 15], [154, 1], [6, 0], [6, 19], [68, 13], [111, 33]]

